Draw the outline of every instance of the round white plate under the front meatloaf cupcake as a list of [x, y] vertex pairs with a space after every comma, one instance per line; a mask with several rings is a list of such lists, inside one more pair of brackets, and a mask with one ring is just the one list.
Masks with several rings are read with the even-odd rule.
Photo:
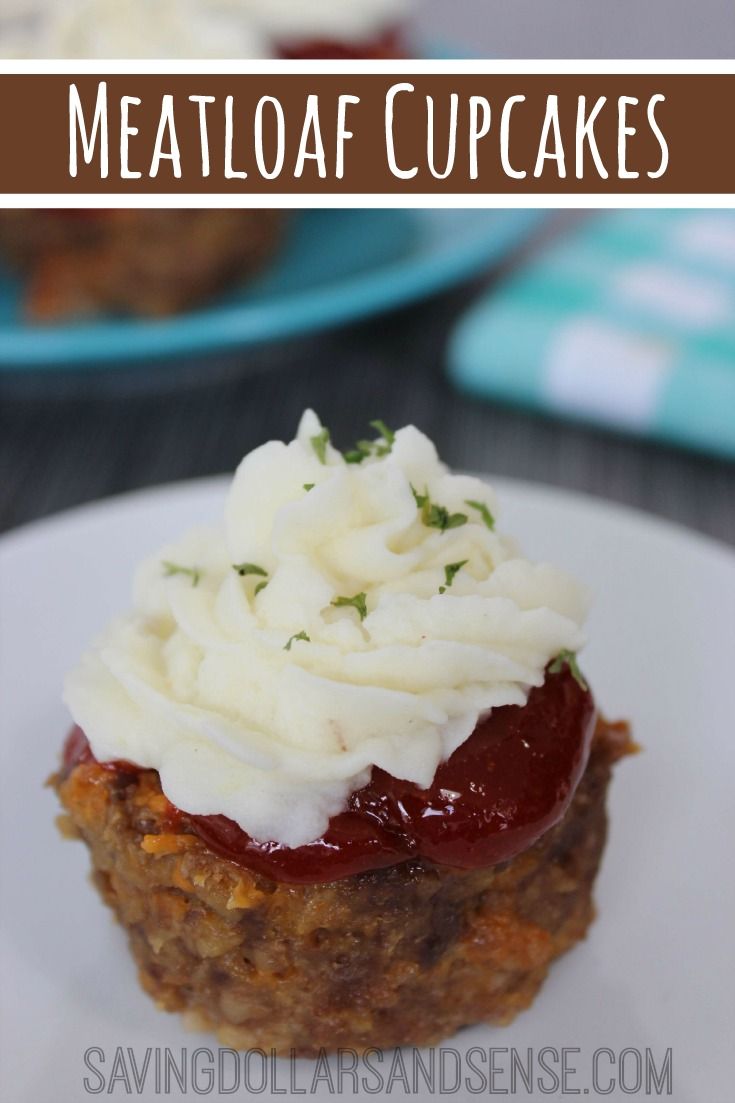
[[[199, 1099], [191, 1084], [187, 1093], [175, 1081], [168, 1095], [157, 1094], [156, 1050], [161, 1058], [170, 1047], [180, 1057], [187, 1046], [191, 1062], [198, 1046], [211, 1046], [219, 1056], [212, 1039], [185, 1034], [178, 1016], [157, 1011], [138, 988], [124, 936], [86, 884], [86, 853], [57, 837], [55, 800], [42, 783], [68, 726], [60, 700], [64, 672], [106, 619], [126, 607], [137, 560], [179, 529], [216, 516], [224, 485], [210, 480], [134, 494], [0, 542], [3, 1101], [87, 1100], [85, 1075], [90, 1088], [102, 1084], [111, 1097]], [[542, 1048], [552, 1047], [558, 1061], [552, 1050], [545, 1062], [557, 1072], [567, 1047], [567, 1065], [576, 1068], [567, 1091], [592, 1099], [648, 1097], [648, 1049], [656, 1068], [671, 1050], [669, 1097], [726, 1103], [733, 1099], [735, 1037], [735, 558], [606, 503], [520, 483], [498, 485], [503, 525], [519, 534], [529, 554], [568, 566], [596, 591], [585, 670], [608, 715], [632, 719], [645, 751], [616, 772], [599, 918], [588, 940], [554, 966], [533, 1007], [511, 1027], [477, 1027], [445, 1043], [435, 1056], [437, 1069], [444, 1068], [443, 1081], [436, 1073], [437, 1094], [452, 1086], [457, 1060], [469, 1083], [460, 1083], [456, 1100], [475, 1099], [471, 1088], [492, 1094], [467, 1063], [472, 1046], [484, 1048], [473, 1064], [486, 1074], [488, 1047], [514, 1048], [524, 1060], [532, 1047], [536, 1061]], [[88, 1061], [100, 1075], [85, 1068], [90, 1047], [98, 1053]], [[122, 1079], [110, 1082], [117, 1047], [124, 1047], [117, 1071], [129, 1077], [131, 1058], [140, 1068], [153, 1047], [142, 1092], [131, 1082], [128, 1096]], [[611, 1051], [615, 1064], [601, 1053], [595, 1083], [593, 1057], [600, 1048]], [[620, 1065], [625, 1086], [636, 1086], [635, 1051], [642, 1054], [640, 1091], [616, 1086], [603, 1095], [599, 1089]], [[510, 1062], [511, 1053], [496, 1052], [497, 1091], [509, 1090], [513, 1100], [567, 1097], [553, 1090], [542, 1094], [537, 1083], [529, 1093], [522, 1081], [513, 1093]], [[408, 1081], [394, 1082], [390, 1099], [426, 1099], [420, 1080], [413, 1090], [411, 1051], [405, 1063]], [[387, 1085], [391, 1054], [374, 1065]], [[255, 1086], [257, 1062], [248, 1068]], [[307, 1097], [313, 1068], [300, 1061], [294, 1069], [295, 1086]], [[260, 1097], [288, 1089], [288, 1070], [277, 1069], [275, 1082], [268, 1070]], [[337, 1086], [335, 1063], [330, 1071]], [[359, 1071], [376, 1085], [364, 1067]], [[553, 1086], [537, 1064], [536, 1074]], [[205, 1074], [199, 1086], [206, 1086]], [[316, 1097], [329, 1097], [326, 1074], [316, 1088]], [[230, 1097], [245, 1094], [241, 1088]], [[350, 1078], [342, 1094], [354, 1095]]]

